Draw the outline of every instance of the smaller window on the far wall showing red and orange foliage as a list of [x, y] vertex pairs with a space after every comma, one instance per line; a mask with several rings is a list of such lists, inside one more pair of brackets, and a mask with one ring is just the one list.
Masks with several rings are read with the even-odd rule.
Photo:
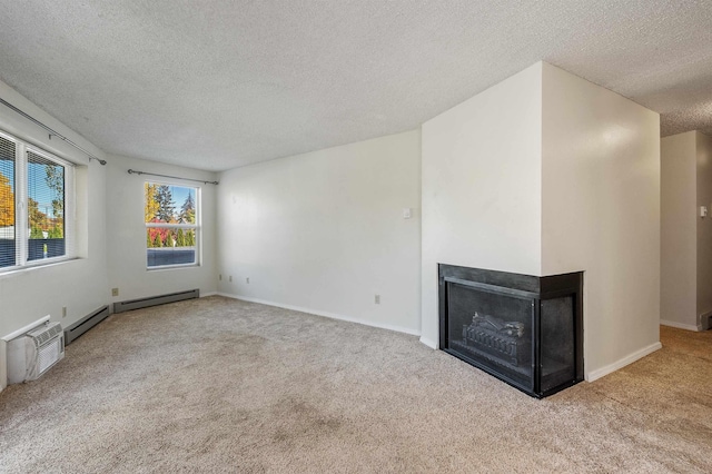
[[144, 185], [148, 268], [198, 264], [199, 188]]

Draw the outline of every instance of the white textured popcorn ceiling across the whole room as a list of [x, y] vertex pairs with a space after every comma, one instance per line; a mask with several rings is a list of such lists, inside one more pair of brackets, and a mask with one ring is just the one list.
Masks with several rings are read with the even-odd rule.
[[2, 0], [0, 79], [108, 152], [222, 170], [416, 128], [545, 60], [712, 134], [710, 1]]

